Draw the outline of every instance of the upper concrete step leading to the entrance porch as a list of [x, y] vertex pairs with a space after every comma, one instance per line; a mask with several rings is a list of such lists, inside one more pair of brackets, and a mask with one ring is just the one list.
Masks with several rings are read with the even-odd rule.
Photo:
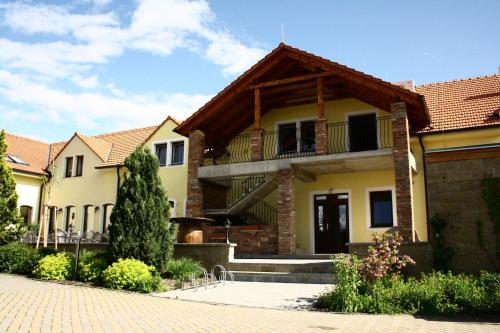
[[331, 273], [330, 260], [235, 259], [227, 265], [231, 271], [278, 273]]

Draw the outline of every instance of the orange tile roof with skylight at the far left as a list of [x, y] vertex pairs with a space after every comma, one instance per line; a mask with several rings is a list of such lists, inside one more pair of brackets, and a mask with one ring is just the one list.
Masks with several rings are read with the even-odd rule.
[[47, 154], [49, 144], [22, 136], [6, 133], [7, 155], [12, 155], [26, 164], [12, 163], [7, 164], [14, 170], [27, 171], [39, 175], [44, 174], [47, 165]]

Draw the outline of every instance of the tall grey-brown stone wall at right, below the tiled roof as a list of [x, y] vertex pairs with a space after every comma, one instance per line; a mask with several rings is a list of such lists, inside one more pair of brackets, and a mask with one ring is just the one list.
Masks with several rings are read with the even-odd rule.
[[[427, 164], [429, 217], [449, 215], [450, 224], [444, 235], [447, 245], [455, 252], [451, 265], [459, 272], [476, 273], [500, 267], [495, 254], [499, 240], [481, 194], [481, 180], [486, 176], [500, 177], [500, 157]], [[483, 248], [478, 240], [479, 232], [484, 240]]]

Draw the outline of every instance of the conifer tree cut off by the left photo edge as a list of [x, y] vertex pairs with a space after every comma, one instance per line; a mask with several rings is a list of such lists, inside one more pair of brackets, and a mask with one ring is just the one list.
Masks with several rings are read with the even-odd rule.
[[23, 220], [17, 209], [16, 180], [7, 165], [5, 131], [0, 132], [0, 245], [13, 241], [22, 229]]

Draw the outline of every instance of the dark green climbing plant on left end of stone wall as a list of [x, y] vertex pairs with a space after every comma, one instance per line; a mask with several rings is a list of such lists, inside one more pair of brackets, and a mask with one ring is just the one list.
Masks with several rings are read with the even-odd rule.
[[450, 270], [450, 262], [455, 255], [453, 249], [446, 245], [445, 240], [445, 228], [449, 224], [448, 218], [448, 216], [437, 214], [429, 220], [434, 268], [438, 271]]

